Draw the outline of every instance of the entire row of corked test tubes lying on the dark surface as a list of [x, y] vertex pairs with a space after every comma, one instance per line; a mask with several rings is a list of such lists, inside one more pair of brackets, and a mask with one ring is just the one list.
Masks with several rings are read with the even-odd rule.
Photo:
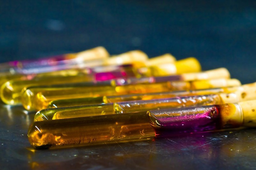
[[104, 47], [0, 64], [0, 97], [37, 111], [36, 149], [155, 140], [256, 124], [256, 83], [225, 68], [201, 70], [194, 57], [148, 58]]

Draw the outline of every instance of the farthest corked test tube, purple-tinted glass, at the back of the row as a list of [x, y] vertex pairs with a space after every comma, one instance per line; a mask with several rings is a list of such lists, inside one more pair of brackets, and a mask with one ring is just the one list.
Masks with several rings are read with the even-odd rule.
[[[90, 50], [81, 51], [78, 53], [69, 53], [59, 56], [52, 56], [48, 58], [41, 58], [38, 60], [29, 61], [13, 61], [0, 64], [0, 72], [12, 72], [12, 73], [33, 73], [45, 72], [46, 68], [50, 66], [64, 66], [65, 64], [79, 64], [81, 62], [87, 62], [92, 60], [103, 60], [109, 57], [109, 53], [104, 47], [96, 47]], [[44, 68], [40, 69], [40, 68]], [[31, 70], [30, 70], [31, 69]], [[61, 68], [60, 68], [61, 69]], [[29, 71], [30, 70], [30, 71]]]

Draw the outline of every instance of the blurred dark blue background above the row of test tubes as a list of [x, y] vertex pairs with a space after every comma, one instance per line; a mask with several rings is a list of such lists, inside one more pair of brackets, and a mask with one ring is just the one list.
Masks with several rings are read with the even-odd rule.
[[104, 46], [198, 58], [256, 81], [256, 1], [0, 0], [0, 62]]

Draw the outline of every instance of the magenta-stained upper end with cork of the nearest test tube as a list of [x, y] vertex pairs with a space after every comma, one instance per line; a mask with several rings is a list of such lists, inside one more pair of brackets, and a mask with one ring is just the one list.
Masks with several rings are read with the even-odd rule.
[[158, 135], [256, 127], [256, 100], [238, 103], [149, 111]]

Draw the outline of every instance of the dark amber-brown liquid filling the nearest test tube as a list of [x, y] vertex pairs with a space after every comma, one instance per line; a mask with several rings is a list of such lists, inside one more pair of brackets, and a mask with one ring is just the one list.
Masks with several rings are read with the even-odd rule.
[[38, 149], [142, 141], [154, 136], [146, 112], [36, 121], [28, 130], [28, 140]]

